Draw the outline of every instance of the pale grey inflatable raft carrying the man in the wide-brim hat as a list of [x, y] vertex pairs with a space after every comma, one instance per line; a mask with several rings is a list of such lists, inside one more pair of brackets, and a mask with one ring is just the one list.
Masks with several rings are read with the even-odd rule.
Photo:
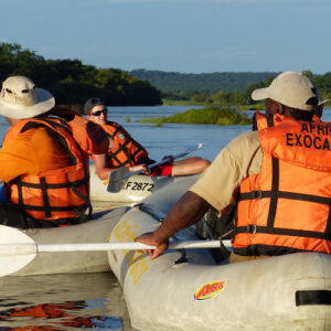
[[[79, 225], [23, 231], [36, 244], [106, 243], [107, 236], [128, 207], [94, 213], [94, 218]], [[109, 271], [106, 252], [39, 253], [35, 258], [10, 276], [81, 274]]]

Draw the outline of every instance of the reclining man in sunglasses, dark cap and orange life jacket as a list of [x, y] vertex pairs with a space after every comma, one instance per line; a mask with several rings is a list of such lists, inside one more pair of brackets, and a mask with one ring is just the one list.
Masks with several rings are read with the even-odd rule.
[[[107, 120], [107, 107], [100, 98], [90, 98], [84, 107], [87, 119], [99, 124], [109, 135], [110, 143], [106, 157], [107, 168], [129, 167], [130, 171], [141, 168], [139, 164], [151, 164], [146, 149], [115, 121]], [[203, 172], [210, 161], [192, 157], [169, 164], [160, 166], [150, 175], [185, 175]]]

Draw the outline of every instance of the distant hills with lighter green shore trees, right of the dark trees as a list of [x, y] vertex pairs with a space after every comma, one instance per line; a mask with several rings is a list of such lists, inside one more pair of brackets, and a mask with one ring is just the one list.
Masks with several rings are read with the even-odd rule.
[[[331, 73], [305, 72], [317, 84], [323, 99], [331, 98]], [[131, 75], [148, 79], [162, 93], [162, 98], [188, 104], [252, 105], [252, 92], [269, 86], [279, 73], [181, 74], [137, 70]]]

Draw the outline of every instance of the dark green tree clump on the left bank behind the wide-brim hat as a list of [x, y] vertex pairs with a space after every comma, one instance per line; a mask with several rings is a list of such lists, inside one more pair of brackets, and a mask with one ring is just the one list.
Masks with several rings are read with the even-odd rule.
[[0, 43], [0, 82], [10, 75], [26, 76], [50, 90], [57, 104], [79, 105], [78, 109], [90, 97], [109, 106], [162, 104], [160, 90], [125, 71], [97, 68], [79, 60], [45, 60], [17, 43]]

